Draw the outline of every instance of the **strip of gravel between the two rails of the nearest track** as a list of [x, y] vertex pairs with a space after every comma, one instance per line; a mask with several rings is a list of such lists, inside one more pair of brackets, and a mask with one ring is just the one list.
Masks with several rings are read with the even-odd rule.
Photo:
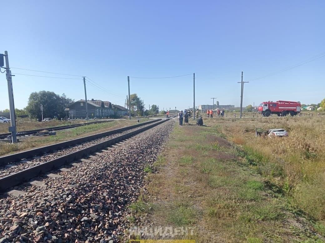
[[[153, 124], [153, 123], [150, 123], [150, 124]], [[94, 139], [94, 140], [91, 140], [91, 141], [88, 141], [88, 142], [85, 142], [85, 143], [80, 143], [80, 144], [77, 144], [77, 145], [74, 145], [74, 146], [70, 146], [68, 148], [62, 148], [62, 149], [55, 150], [53, 152], [44, 153], [43, 155], [34, 156], [34, 157], [32, 157], [30, 159], [27, 159], [27, 160], [19, 160], [17, 162], [11, 163], [10, 165], [7, 165], [6, 167], [5, 166], [0, 166], [0, 178], [5, 177], [7, 175], [10, 175], [12, 173], [19, 172], [19, 171], [21, 171], [23, 169], [27, 169], [27, 168], [33, 167], [35, 165], [39, 165], [41, 163], [44, 163], [46, 161], [58, 158], [60, 156], [66, 155], [66, 154], [69, 154], [71, 152], [78, 151], [78, 150], [80, 150], [82, 148], [85, 148], [85, 147], [88, 147], [88, 146], [91, 146], [91, 145], [95, 145], [95, 144], [107, 141], [107, 140], [112, 139], [114, 137], [121, 136], [121, 135], [123, 135], [125, 133], [132, 132], [132, 131], [134, 131], [136, 129], [148, 126], [150, 124], [143, 125], [143, 126], [140, 126], [140, 127], [136, 127], [136, 128], [133, 128], [133, 129], [129, 129], [129, 130], [123, 131], [121, 133], [116, 133], [116, 134], [112, 134], [112, 135], [109, 135], [109, 136], [106, 136], [106, 137]]]

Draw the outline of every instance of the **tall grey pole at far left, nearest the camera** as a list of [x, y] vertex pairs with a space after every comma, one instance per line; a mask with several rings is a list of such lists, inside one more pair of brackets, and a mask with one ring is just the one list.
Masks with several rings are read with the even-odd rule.
[[17, 143], [17, 134], [16, 134], [15, 102], [14, 102], [14, 93], [13, 93], [13, 89], [12, 89], [12, 79], [11, 79], [11, 72], [10, 72], [10, 68], [9, 68], [9, 59], [8, 59], [7, 51], [5, 51], [4, 56], [6, 59], [6, 78], [7, 78], [7, 84], [8, 84], [10, 124], [11, 124], [11, 126], [8, 127], [8, 130], [11, 133], [11, 142], [16, 144]]

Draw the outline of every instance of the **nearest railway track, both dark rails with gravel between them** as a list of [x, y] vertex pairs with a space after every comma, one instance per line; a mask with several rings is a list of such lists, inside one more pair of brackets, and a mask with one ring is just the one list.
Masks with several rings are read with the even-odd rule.
[[[138, 133], [167, 121], [156, 119], [98, 133], [59, 144], [48, 145], [20, 153], [0, 157], [0, 192], [28, 182], [35, 176], [58, 169], [98, 150], [108, 148]], [[18, 171], [17, 171], [18, 170]], [[37, 184], [37, 182], [35, 182]]]

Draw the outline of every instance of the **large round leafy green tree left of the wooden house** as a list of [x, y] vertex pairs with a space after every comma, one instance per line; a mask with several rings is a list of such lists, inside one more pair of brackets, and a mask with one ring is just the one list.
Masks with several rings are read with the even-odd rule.
[[67, 98], [65, 94], [59, 96], [51, 91], [32, 92], [28, 99], [26, 111], [31, 117], [42, 119], [41, 105], [43, 105], [43, 117], [64, 116], [64, 108], [73, 102], [72, 99]]

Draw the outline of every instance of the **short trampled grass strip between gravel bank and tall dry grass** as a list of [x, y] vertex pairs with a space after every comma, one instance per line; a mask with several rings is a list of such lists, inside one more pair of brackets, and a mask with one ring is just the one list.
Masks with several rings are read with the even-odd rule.
[[[245, 128], [231, 133], [231, 126], [240, 125], [214, 120], [207, 127], [175, 127], [159, 159], [159, 173], [149, 176], [148, 201], [154, 204], [147, 218], [150, 226], [193, 226], [195, 235], [185, 238], [196, 242], [323, 239], [313, 231], [317, 228], [324, 236], [323, 224], [309, 223], [304, 214], [299, 214], [304, 223], [298, 222], [290, 200], [271, 190], [268, 178], [224, 139], [226, 130], [227, 136], [250, 133]], [[244, 155], [249, 157], [247, 152]]]

